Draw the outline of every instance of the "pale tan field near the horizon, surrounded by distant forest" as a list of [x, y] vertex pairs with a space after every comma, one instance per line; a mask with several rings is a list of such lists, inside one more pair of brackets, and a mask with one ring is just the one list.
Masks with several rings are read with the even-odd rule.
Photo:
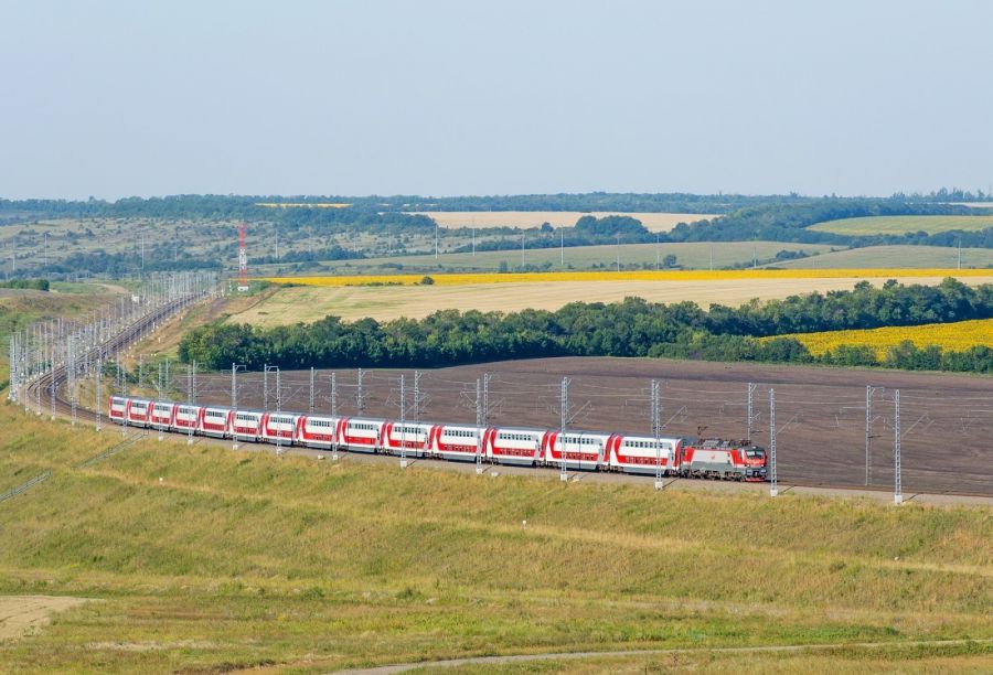
[[602, 218], [608, 215], [631, 216], [641, 221], [649, 232], [669, 232], [680, 223], [716, 218], [714, 214], [700, 213], [620, 213], [616, 211], [415, 211], [433, 218], [439, 227], [540, 227], [548, 223], [553, 227], [572, 227], [585, 215]]

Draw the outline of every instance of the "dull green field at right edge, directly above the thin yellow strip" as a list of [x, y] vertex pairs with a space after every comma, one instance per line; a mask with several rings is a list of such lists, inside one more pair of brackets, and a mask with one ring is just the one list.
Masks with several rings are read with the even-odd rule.
[[[783, 269], [950, 268], [959, 264], [959, 251], [948, 246], [867, 246], [826, 253], [802, 260], [777, 262]], [[993, 249], [963, 248], [962, 269], [993, 267]]]

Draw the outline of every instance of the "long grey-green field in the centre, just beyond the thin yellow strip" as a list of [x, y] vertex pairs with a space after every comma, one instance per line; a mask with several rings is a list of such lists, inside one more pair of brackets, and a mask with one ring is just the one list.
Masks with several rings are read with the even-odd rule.
[[[620, 250], [618, 250], [618, 248]], [[620, 253], [621, 265], [654, 266], [668, 255], [676, 257], [676, 264], [687, 269], [716, 269], [734, 265], [748, 265], [754, 258], [759, 262], [772, 259], [781, 250], [823, 254], [832, 250], [831, 246], [820, 244], [788, 244], [782, 242], [732, 242], [732, 243], [690, 243], [690, 244], [622, 244], [618, 246], [574, 246], [564, 251], [565, 269], [592, 269], [594, 266], [612, 268]], [[563, 253], [558, 248], [530, 248], [524, 251], [523, 264], [537, 267], [548, 265], [552, 269], [562, 269]], [[392, 256], [366, 258], [363, 260], [328, 260], [322, 265], [335, 274], [389, 274], [403, 270], [406, 272], [437, 274], [439, 271], [495, 271], [501, 262], [510, 269], [522, 264], [521, 249], [442, 253], [439, 257], [430, 255]], [[258, 268], [255, 274], [265, 274], [266, 268]]]

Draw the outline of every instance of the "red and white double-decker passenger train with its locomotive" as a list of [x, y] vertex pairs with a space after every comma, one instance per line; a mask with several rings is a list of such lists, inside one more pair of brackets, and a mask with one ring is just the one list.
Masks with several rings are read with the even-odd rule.
[[730, 481], [767, 478], [765, 449], [748, 440], [305, 415], [125, 396], [109, 398], [108, 418], [129, 427], [313, 450]]

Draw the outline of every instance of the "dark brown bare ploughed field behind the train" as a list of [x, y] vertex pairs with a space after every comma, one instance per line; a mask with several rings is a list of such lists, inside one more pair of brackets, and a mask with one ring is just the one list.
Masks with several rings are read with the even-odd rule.
[[[855, 368], [724, 364], [652, 358], [541, 358], [425, 371], [421, 419], [474, 424], [476, 379], [492, 374], [491, 424], [556, 428], [558, 388], [570, 377], [574, 429], [648, 433], [649, 385], [662, 383], [663, 433], [738, 439], [747, 429], [748, 383], [756, 383], [752, 438], [769, 440], [769, 389], [776, 392], [781, 481], [862, 486], [866, 482], [865, 387], [874, 393], [871, 484], [894, 478], [893, 393], [900, 389], [905, 491], [993, 494], [993, 378]], [[399, 371], [366, 371], [365, 415], [396, 417]], [[407, 383], [413, 373], [406, 371]], [[286, 410], [307, 410], [309, 372], [282, 374]], [[226, 405], [231, 375], [201, 377], [207, 403]], [[318, 373], [318, 410], [330, 406], [330, 371]], [[355, 415], [355, 373], [337, 373], [338, 411]], [[258, 373], [238, 378], [238, 399], [261, 407]], [[200, 387], [201, 385], [197, 385]], [[409, 394], [408, 394], [409, 396]], [[409, 400], [409, 399], [408, 399]], [[270, 401], [271, 403], [271, 401]]]

